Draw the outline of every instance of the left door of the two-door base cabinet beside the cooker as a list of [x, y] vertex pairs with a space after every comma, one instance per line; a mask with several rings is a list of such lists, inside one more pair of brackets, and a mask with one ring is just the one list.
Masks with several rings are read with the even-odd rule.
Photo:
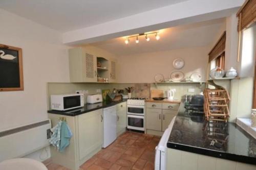
[[162, 130], [162, 109], [146, 109], [146, 129]]

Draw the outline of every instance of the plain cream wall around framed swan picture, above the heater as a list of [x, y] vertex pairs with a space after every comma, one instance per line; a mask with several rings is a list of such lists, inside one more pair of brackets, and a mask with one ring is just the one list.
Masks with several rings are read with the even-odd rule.
[[24, 91], [0, 92], [0, 131], [47, 118], [47, 82], [68, 82], [61, 34], [0, 9], [1, 44], [23, 49]]

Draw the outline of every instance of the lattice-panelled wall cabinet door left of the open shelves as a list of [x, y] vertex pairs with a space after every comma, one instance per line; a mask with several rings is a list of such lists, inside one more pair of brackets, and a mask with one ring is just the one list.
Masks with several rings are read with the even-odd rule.
[[83, 50], [83, 81], [97, 82], [97, 59]]

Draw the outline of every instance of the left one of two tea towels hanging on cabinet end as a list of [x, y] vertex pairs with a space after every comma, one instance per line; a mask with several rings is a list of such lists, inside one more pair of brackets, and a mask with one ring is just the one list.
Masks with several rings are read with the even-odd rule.
[[49, 140], [49, 142], [55, 147], [57, 148], [57, 150], [59, 150], [59, 145], [60, 145], [60, 130], [61, 130], [61, 125], [62, 125], [62, 122], [59, 121], [58, 124], [53, 127], [51, 129], [52, 131], [52, 135], [51, 135], [51, 138]]

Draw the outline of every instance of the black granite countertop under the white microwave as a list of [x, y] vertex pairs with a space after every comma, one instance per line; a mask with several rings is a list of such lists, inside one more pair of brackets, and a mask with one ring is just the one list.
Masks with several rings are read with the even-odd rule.
[[67, 110], [67, 111], [48, 110], [48, 113], [61, 114], [61, 115], [66, 115], [66, 116], [76, 116], [76, 115], [83, 114], [83, 113], [88, 113], [88, 112], [91, 112], [91, 111], [94, 111], [94, 110], [114, 106], [116, 104], [126, 102], [126, 101], [127, 100], [121, 100], [121, 101], [118, 101], [118, 102], [104, 101], [104, 102], [95, 103], [95, 104], [85, 104], [82, 108], [72, 109], [72, 110]]

